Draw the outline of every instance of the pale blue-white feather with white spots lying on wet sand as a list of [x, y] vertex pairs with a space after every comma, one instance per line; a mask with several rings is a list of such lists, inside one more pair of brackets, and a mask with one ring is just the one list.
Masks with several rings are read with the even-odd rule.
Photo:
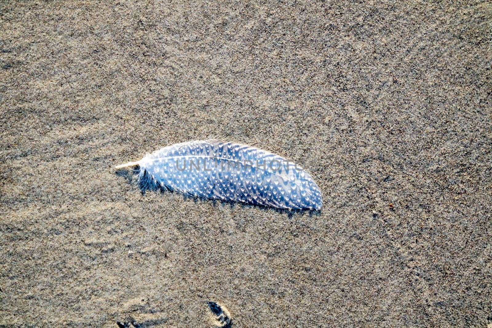
[[296, 164], [266, 150], [213, 140], [190, 141], [136, 162], [144, 176], [173, 191], [277, 209], [321, 209], [321, 192]]

